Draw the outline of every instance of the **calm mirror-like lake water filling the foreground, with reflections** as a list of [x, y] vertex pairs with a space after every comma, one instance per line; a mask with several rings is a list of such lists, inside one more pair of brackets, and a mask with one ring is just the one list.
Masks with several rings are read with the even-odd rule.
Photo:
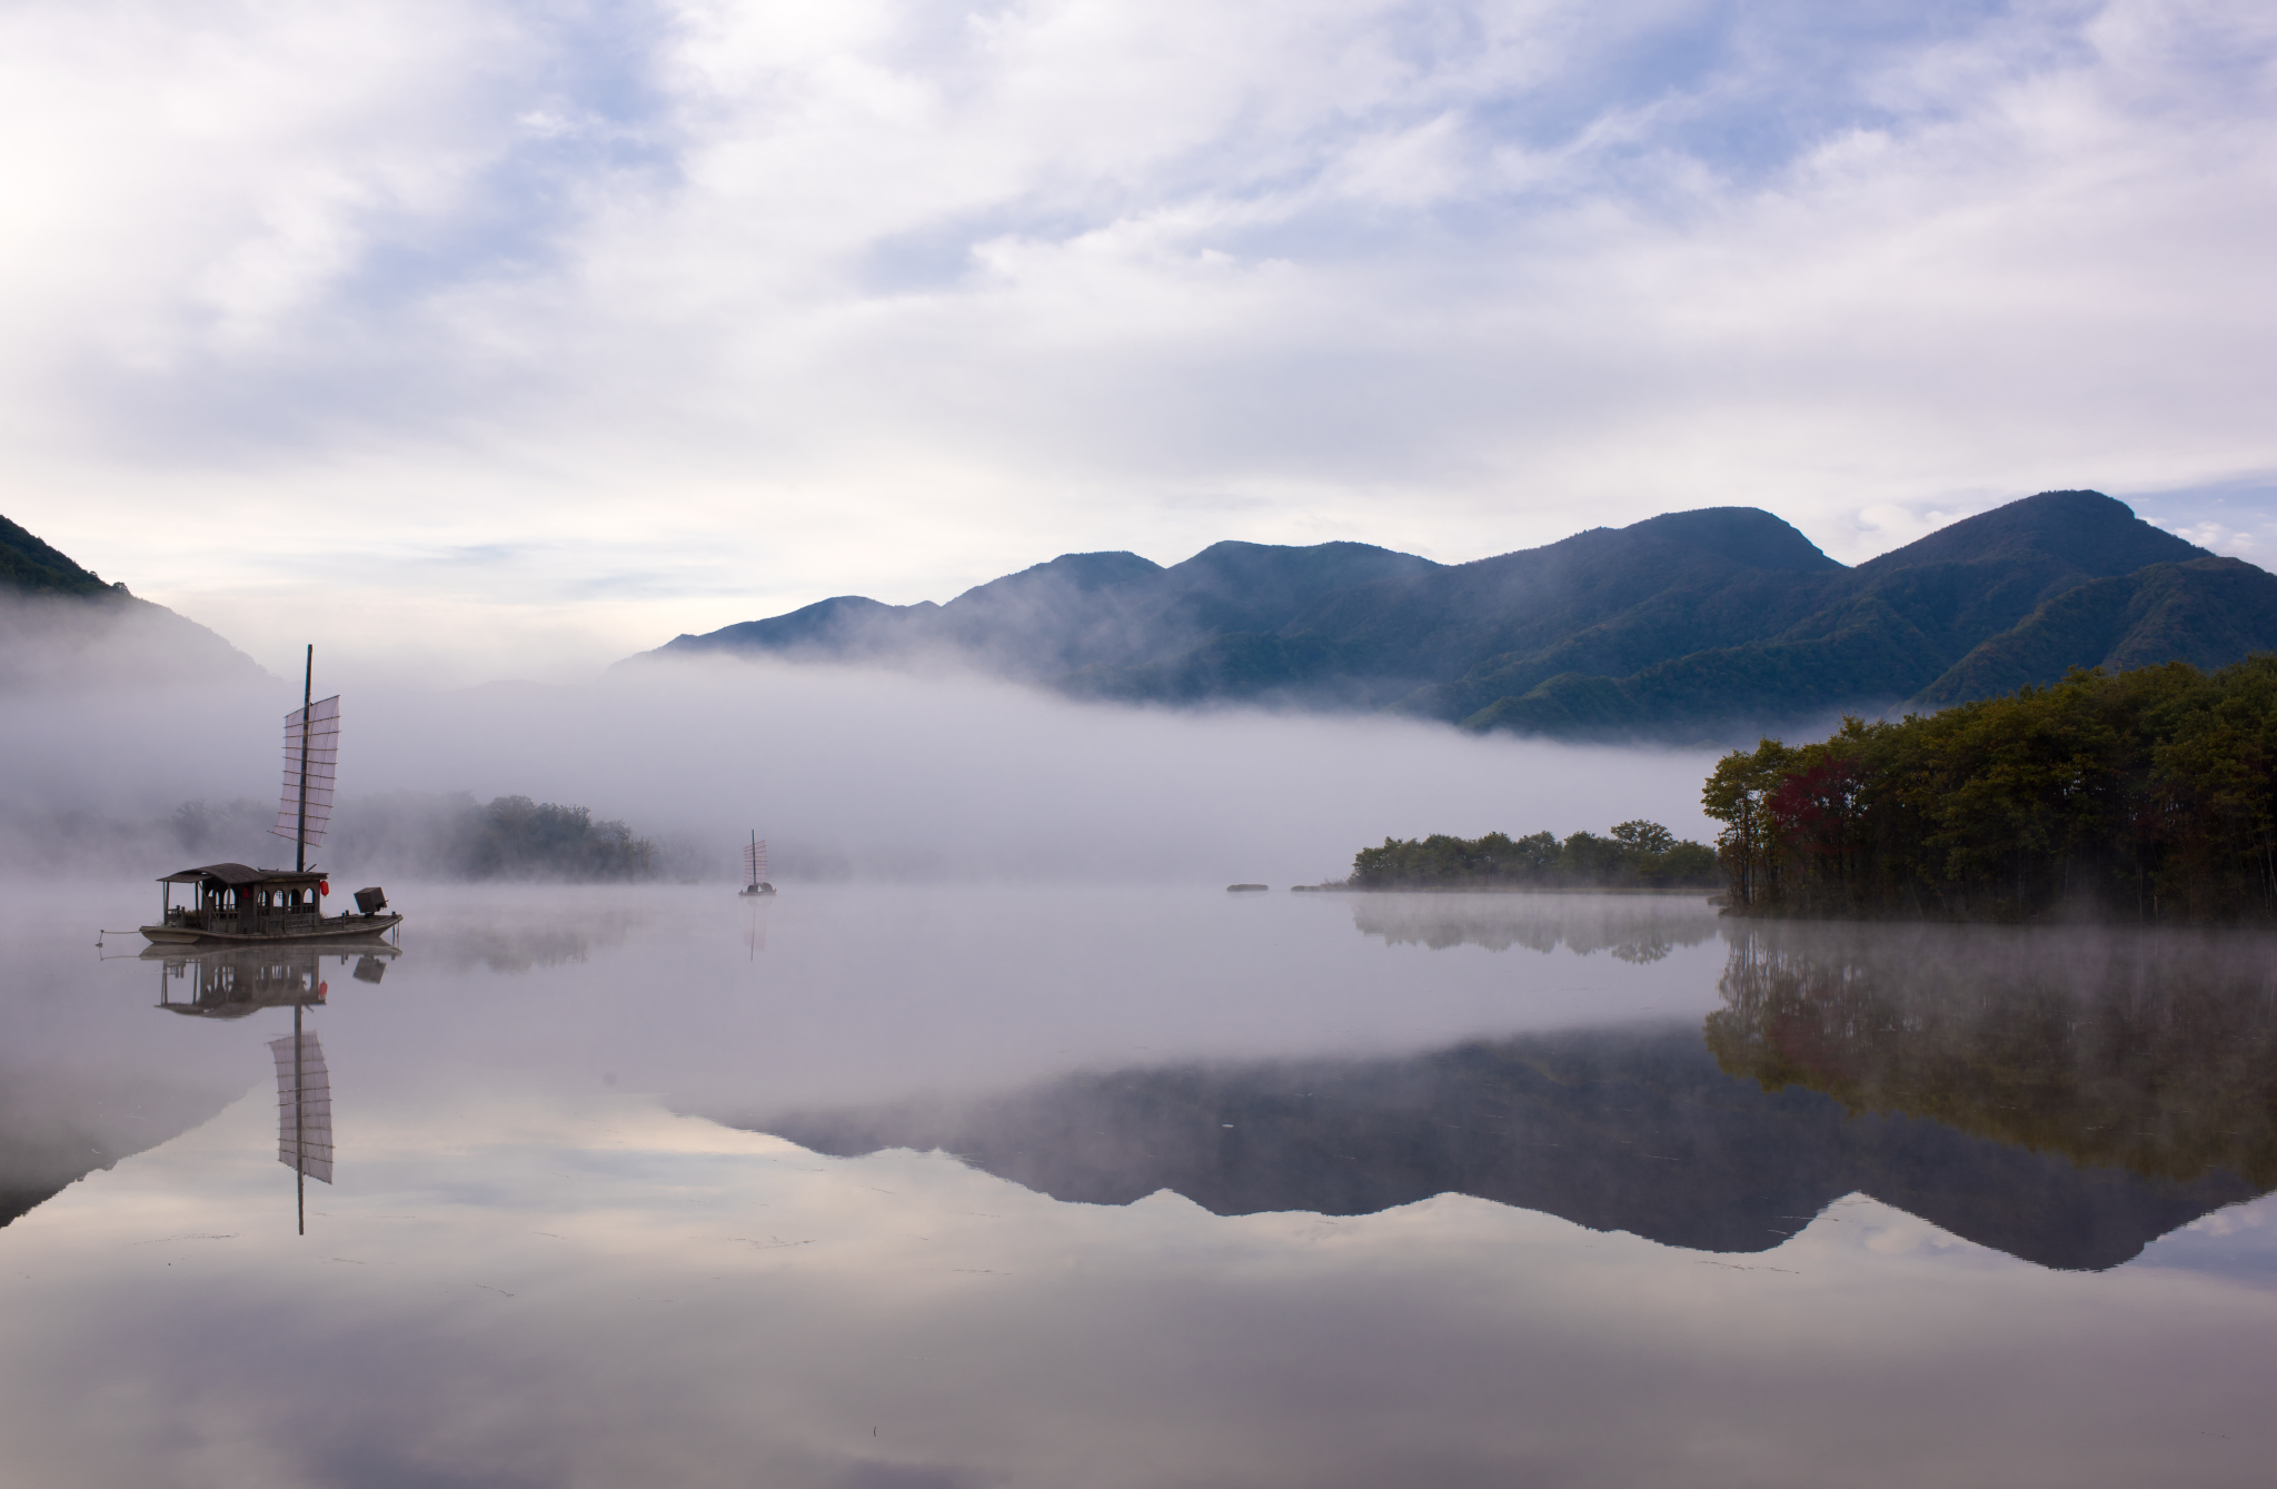
[[2277, 1453], [2263, 936], [389, 888], [401, 952], [321, 956], [98, 949], [150, 886], [9, 892], [7, 1482], [2077, 1489]]

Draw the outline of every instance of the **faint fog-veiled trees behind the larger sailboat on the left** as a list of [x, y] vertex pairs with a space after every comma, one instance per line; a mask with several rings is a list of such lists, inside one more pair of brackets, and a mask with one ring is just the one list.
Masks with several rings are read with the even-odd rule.
[[[214, 808], [184, 801], [173, 813], [173, 838], [191, 858], [269, 854], [276, 808], [230, 801]], [[289, 845], [287, 845], [289, 847]], [[624, 822], [594, 822], [585, 806], [471, 792], [389, 792], [339, 804], [319, 863], [357, 872], [408, 872], [424, 879], [651, 879], [663, 867], [656, 842]]]

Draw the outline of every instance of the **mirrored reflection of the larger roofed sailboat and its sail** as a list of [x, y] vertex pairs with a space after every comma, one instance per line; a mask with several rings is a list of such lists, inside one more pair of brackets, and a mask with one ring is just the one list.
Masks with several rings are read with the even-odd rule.
[[[303, 1025], [303, 1009], [323, 1006], [330, 995], [326, 961], [348, 968], [355, 981], [376, 984], [401, 956], [376, 943], [353, 952], [319, 945], [232, 947], [184, 952], [148, 947], [143, 961], [159, 963], [157, 1006], [194, 1018], [246, 1018], [257, 1009], [291, 1009], [291, 1034], [269, 1040], [278, 1077], [278, 1161], [294, 1170], [301, 1234], [307, 1234], [307, 1182], [332, 1182], [332, 1075], [323, 1043]], [[178, 986], [187, 984], [187, 986]]]

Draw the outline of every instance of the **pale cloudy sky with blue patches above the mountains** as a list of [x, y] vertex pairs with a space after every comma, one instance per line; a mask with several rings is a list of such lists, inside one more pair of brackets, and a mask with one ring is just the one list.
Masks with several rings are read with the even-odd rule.
[[18, 0], [0, 153], [0, 512], [276, 672], [1701, 505], [2277, 553], [2241, 0]]

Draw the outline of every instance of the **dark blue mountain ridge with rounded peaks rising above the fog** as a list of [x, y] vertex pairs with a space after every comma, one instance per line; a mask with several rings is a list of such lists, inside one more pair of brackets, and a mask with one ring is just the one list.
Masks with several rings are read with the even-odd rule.
[[2042, 492], [1844, 567], [1756, 508], [1464, 565], [1357, 542], [1066, 553], [945, 606], [827, 599], [644, 656], [956, 658], [1072, 697], [1396, 710], [1473, 731], [1705, 738], [1938, 708], [2068, 667], [2277, 649], [2277, 576], [2102, 492]]

